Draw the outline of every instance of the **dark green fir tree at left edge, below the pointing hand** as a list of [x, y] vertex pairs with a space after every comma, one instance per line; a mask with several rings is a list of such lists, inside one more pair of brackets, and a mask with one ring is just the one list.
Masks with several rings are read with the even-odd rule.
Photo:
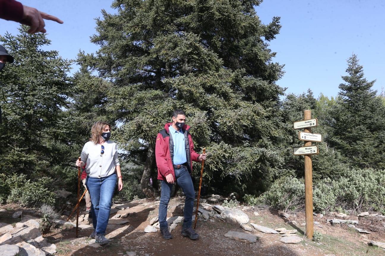
[[16, 36], [0, 36], [2, 45], [15, 58], [0, 73], [0, 172], [38, 177], [69, 159], [75, 128], [65, 109], [72, 84], [67, 77], [70, 61], [57, 51], [43, 50], [50, 40], [42, 33], [30, 35], [27, 30], [22, 26]]

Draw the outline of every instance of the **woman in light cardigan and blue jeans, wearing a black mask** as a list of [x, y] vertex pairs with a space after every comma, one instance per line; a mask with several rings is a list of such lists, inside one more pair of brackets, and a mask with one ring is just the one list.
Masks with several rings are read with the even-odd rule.
[[107, 122], [96, 122], [91, 129], [92, 137], [87, 142], [76, 161], [76, 166], [86, 164], [87, 178], [85, 185], [91, 196], [92, 224], [94, 232], [90, 238], [95, 238], [99, 244], [109, 243], [105, 238], [112, 196], [118, 182], [119, 191], [123, 188], [120, 163], [116, 143], [110, 139], [111, 126]]

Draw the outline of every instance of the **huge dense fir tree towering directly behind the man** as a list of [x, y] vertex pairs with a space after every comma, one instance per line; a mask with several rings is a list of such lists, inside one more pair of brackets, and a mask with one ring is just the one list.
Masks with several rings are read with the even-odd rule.
[[280, 128], [288, 124], [276, 84], [283, 71], [268, 48], [281, 26], [278, 17], [261, 23], [254, 10], [261, 2], [115, 0], [116, 15], [102, 11], [92, 36], [100, 50], [78, 56], [77, 92], [100, 83], [90, 78], [95, 72], [105, 79], [83, 116], [103, 109], [118, 127], [123, 156], [144, 166], [146, 195], [156, 195], [156, 134], [176, 108], [187, 113], [196, 151], [208, 149], [212, 186], [241, 189], [271, 180], [283, 165], [280, 145], [288, 137]]

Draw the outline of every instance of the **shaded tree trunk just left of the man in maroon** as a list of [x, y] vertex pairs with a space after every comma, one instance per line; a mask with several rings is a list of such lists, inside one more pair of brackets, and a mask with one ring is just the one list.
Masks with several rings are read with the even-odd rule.
[[[146, 163], [144, 164], [143, 175], [141, 179], [141, 186], [144, 195], [147, 197], [156, 198], [159, 196], [159, 192], [151, 185], [150, 178], [151, 172], [154, 170], [155, 164], [155, 145], [150, 144], [147, 152]], [[152, 183], [156, 182], [153, 180]]]

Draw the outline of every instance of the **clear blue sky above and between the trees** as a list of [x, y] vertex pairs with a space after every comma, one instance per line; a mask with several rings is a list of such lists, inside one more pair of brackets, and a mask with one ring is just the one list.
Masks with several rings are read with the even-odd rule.
[[[73, 59], [79, 50], [95, 52], [89, 37], [96, 33], [94, 18], [112, 0], [21, 0], [62, 19], [60, 25], [46, 21], [51, 49], [63, 58]], [[382, 0], [264, 0], [256, 7], [263, 23], [281, 17], [281, 32], [270, 42], [277, 53], [275, 61], [285, 64], [285, 75], [278, 81], [286, 93], [302, 93], [310, 88], [315, 96], [338, 94], [345, 75], [346, 59], [358, 55], [368, 80], [377, 79], [373, 89], [385, 87], [385, 3]], [[0, 20], [0, 34], [17, 33], [18, 23]], [[77, 67], [74, 66], [74, 70]]]

